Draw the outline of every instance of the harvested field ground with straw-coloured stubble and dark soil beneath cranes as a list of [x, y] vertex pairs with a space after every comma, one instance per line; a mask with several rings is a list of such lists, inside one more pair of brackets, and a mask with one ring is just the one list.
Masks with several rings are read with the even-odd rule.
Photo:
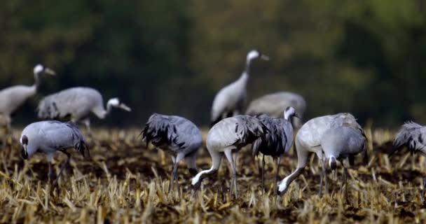
[[[260, 188], [259, 158], [253, 162], [249, 148], [238, 156], [238, 200], [231, 199], [231, 178], [226, 160], [214, 178], [205, 179], [197, 195], [191, 195], [191, 175], [184, 162], [179, 167], [179, 193], [167, 193], [172, 162], [155, 148], [137, 139], [139, 130], [94, 130], [88, 138], [91, 159], [71, 151], [71, 167], [58, 188], [47, 184], [46, 157], [20, 158], [18, 136], [0, 152], [0, 223], [425, 223], [420, 200], [425, 158], [400, 152], [392, 160], [393, 133], [366, 129], [370, 162], [350, 169], [348, 202], [338, 180], [329, 175], [329, 195], [318, 197], [320, 165], [312, 156], [283, 197], [271, 192], [275, 165], [268, 158], [267, 193]], [[373, 141], [371, 141], [371, 139]], [[11, 141], [11, 139], [8, 139]], [[10, 142], [9, 142], [10, 143]], [[280, 177], [294, 171], [296, 153], [282, 160]], [[198, 166], [210, 167], [205, 148]], [[58, 153], [55, 169], [66, 156]]]

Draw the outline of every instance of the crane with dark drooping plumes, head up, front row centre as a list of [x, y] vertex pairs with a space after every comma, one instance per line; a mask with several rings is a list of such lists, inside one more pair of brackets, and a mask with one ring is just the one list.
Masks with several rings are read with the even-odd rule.
[[[284, 118], [270, 118], [266, 115], [257, 116], [261, 122], [268, 127], [268, 132], [261, 137], [261, 141], [252, 145], [253, 155], [262, 153], [262, 189], [264, 189], [263, 172], [265, 169], [265, 155], [270, 155], [277, 159], [277, 171], [275, 173], [275, 181], [278, 181], [278, 171], [280, 169], [280, 162], [282, 156], [287, 153], [291, 146], [293, 146], [293, 126], [291, 125], [291, 118], [298, 117], [296, 110], [287, 106], [284, 110]], [[276, 188], [274, 188], [275, 190]], [[275, 191], [276, 192], [276, 191]]]

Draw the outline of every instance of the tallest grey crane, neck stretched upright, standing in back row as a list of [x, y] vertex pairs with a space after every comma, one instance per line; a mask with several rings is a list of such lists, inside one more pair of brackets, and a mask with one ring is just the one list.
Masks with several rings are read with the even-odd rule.
[[249, 79], [250, 64], [256, 58], [268, 60], [269, 57], [262, 55], [258, 50], [251, 50], [247, 54], [245, 69], [240, 78], [233, 83], [223, 87], [214, 97], [212, 105], [212, 125], [224, 118], [244, 113], [247, 103], [247, 80]]

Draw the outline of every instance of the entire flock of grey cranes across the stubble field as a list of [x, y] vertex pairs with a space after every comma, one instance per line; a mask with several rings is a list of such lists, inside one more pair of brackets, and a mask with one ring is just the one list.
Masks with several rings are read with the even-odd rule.
[[[257, 50], [247, 54], [245, 70], [238, 80], [222, 88], [216, 95], [211, 113], [212, 127], [207, 134], [206, 146], [212, 158], [210, 169], [199, 171], [196, 166], [196, 155], [202, 146], [202, 135], [199, 128], [186, 118], [166, 116], [158, 113], [146, 122], [143, 130], [143, 141], [161, 148], [172, 157], [173, 170], [171, 175], [171, 190], [174, 183], [179, 188], [177, 169], [181, 160], [186, 160], [189, 172], [193, 175], [191, 185], [196, 191], [202, 180], [212, 176], [221, 165], [223, 155], [230, 163], [232, 180], [230, 192], [238, 197], [236, 159], [241, 148], [251, 145], [253, 156], [261, 153], [262, 171], [261, 186], [263, 188], [264, 156], [276, 159], [277, 171], [282, 157], [288, 153], [291, 146], [297, 152], [298, 163], [296, 170], [289, 176], [278, 181], [275, 174], [276, 193], [283, 195], [289, 189], [294, 179], [303, 173], [308, 164], [308, 155], [315, 153], [322, 165], [320, 195], [322, 186], [327, 189], [326, 166], [336, 172], [338, 162], [343, 166], [343, 186], [348, 175], [347, 164], [353, 165], [355, 156], [366, 153], [367, 138], [364, 130], [350, 113], [337, 113], [320, 116], [308, 120], [301, 125], [301, 116], [306, 109], [306, 102], [298, 94], [292, 92], [277, 92], [255, 99], [245, 110], [247, 102], [247, 81], [250, 64], [254, 59], [268, 60], [266, 55]], [[11, 132], [11, 114], [22, 105], [26, 99], [36, 93], [43, 74], [55, 75], [52, 69], [40, 64], [34, 67], [35, 83], [32, 86], [18, 85], [0, 91], [0, 115], [6, 123], [6, 130]], [[44, 97], [38, 106], [38, 116], [43, 119], [27, 125], [20, 136], [22, 158], [27, 159], [36, 152], [45, 153], [48, 158], [48, 179], [57, 183], [62, 171], [69, 165], [71, 154], [68, 148], [75, 148], [85, 156], [89, 150], [85, 139], [76, 123], [83, 123], [90, 133], [88, 116], [94, 113], [98, 118], [105, 118], [113, 107], [131, 111], [118, 98], [109, 99], [107, 109], [104, 107], [102, 95], [89, 87], [73, 87]], [[242, 115], [245, 113], [245, 115]], [[58, 120], [69, 120], [61, 122]], [[294, 127], [298, 129], [294, 136]], [[3, 136], [3, 148], [6, 148], [6, 132]], [[416, 123], [404, 124], [394, 140], [392, 153], [406, 146], [411, 152], [426, 153], [426, 128]], [[59, 174], [55, 175], [51, 160], [57, 151], [67, 155]], [[56, 178], [55, 178], [56, 176]], [[426, 184], [426, 179], [424, 181]]]

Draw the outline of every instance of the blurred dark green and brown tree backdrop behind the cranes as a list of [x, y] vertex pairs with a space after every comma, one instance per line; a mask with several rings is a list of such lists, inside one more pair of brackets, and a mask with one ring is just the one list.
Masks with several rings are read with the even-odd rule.
[[98, 125], [139, 126], [153, 112], [209, 123], [216, 92], [237, 79], [247, 52], [249, 100], [277, 91], [308, 102], [305, 118], [350, 111], [360, 123], [426, 122], [426, 1], [420, 0], [5, 0], [0, 89], [32, 85], [14, 125], [36, 120], [43, 95], [97, 88], [133, 112]]

